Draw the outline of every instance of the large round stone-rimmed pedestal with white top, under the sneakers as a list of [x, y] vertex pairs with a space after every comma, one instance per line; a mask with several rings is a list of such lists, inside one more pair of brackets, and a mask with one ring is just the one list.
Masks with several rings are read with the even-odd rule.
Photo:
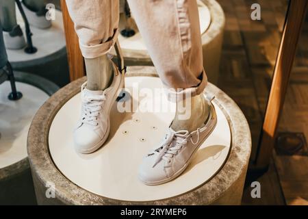
[[[166, 96], [158, 98], [162, 82], [155, 68], [127, 69], [126, 88], [140, 90], [132, 95], [132, 103], [140, 103], [139, 111], [119, 113], [115, 104], [107, 142], [89, 155], [76, 153], [72, 141], [84, 80], [51, 96], [31, 125], [28, 154], [39, 204], [240, 204], [251, 136], [244, 115], [221, 90], [207, 87], [207, 92], [216, 94], [218, 125], [188, 169], [169, 183], [147, 186], [138, 180], [138, 165], [157, 146], [175, 114], [175, 105]], [[142, 94], [142, 88], [153, 95]], [[168, 110], [142, 110], [142, 103], [151, 102], [169, 105], [164, 108]]]

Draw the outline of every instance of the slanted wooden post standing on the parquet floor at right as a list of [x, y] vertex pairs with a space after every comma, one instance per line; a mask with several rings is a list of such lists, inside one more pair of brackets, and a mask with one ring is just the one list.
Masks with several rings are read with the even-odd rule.
[[261, 144], [259, 144], [255, 168], [267, 168], [272, 156], [279, 118], [283, 110], [293, 60], [296, 55], [296, 46], [305, 20], [306, 8], [307, 0], [290, 0], [277, 62], [274, 68], [272, 87], [270, 88], [270, 97], [266, 107], [260, 139]]

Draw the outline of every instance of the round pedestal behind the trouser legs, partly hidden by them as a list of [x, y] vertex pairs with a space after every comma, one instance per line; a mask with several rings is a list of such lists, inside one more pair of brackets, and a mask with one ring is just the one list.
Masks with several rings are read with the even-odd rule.
[[[203, 66], [211, 83], [218, 83], [220, 53], [224, 31], [224, 12], [215, 0], [198, 0], [198, 12], [203, 47]], [[124, 29], [123, 16], [120, 16], [120, 29]], [[153, 65], [137, 27], [136, 34], [125, 38], [119, 34], [118, 40], [126, 65]], [[116, 55], [114, 49], [110, 51]]]

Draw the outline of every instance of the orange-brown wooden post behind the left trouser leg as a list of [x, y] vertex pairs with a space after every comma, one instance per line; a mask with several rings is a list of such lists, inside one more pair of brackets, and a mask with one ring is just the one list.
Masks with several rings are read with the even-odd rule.
[[74, 23], [68, 14], [65, 0], [61, 0], [62, 16], [66, 38], [66, 51], [68, 54], [68, 66], [70, 69], [70, 81], [86, 75], [84, 57], [79, 49], [79, 40], [75, 32]]

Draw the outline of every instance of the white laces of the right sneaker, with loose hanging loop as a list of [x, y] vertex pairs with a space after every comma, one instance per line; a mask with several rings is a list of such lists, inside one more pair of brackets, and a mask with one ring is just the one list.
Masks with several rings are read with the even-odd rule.
[[[196, 142], [193, 142], [191, 138], [192, 133], [194, 132], [197, 132], [198, 136]], [[192, 144], [197, 144], [199, 141], [200, 129], [193, 131], [190, 133], [190, 135], [188, 135], [188, 133], [189, 132], [187, 130], [180, 130], [176, 132], [171, 131], [168, 138], [166, 138], [166, 140], [162, 143], [162, 146], [159, 146], [159, 148], [154, 150], [154, 154], [157, 154], [157, 159], [155, 159], [153, 168], [159, 163], [161, 159], [164, 159], [166, 162], [170, 162], [170, 159], [179, 153], [179, 151], [182, 149], [182, 144], [187, 144], [189, 137]], [[151, 155], [153, 155], [153, 153]]]

